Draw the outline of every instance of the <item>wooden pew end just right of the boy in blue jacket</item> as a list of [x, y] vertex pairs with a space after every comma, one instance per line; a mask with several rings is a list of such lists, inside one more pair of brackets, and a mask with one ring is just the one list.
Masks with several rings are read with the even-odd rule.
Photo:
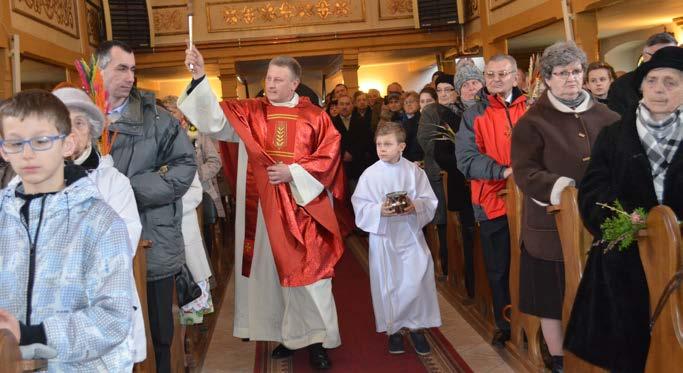
[[145, 335], [147, 337], [147, 358], [133, 367], [136, 373], [156, 372], [156, 362], [154, 360], [154, 345], [152, 344], [152, 333], [149, 329], [149, 314], [147, 313], [147, 250], [152, 247], [152, 241], [140, 240], [138, 249], [133, 258], [133, 275], [135, 277], [135, 287], [138, 289], [140, 305], [142, 306], [142, 317], [145, 320]]

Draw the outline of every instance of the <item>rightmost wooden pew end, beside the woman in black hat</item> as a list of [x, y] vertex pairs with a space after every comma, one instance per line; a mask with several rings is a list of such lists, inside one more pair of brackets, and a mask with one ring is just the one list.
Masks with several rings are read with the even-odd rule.
[[[681, 226], [667, 206], [650, 210], [647, 229], [639, 234], [638, 246], [650, 291], [650, 312], [669, 281], [683, 264]], [[683, 367], [683, 289], [671, 293], [651, 333], [646, 372], [675, 372]]]

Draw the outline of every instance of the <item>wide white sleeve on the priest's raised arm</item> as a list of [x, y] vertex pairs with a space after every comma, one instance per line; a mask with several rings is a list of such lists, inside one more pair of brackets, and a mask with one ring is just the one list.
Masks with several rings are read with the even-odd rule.
[[[189, 86], [188, 86], [189, 87]], [[209, 78], [204, 77], [192, 93], [187, 94], [187, 88], [178, 97], [178, 109], [194, 124], [199, 132], [229, 142], [237, 142], [239, 138], [230, 122], [225, 117], [216, 95], [211, 91]]]

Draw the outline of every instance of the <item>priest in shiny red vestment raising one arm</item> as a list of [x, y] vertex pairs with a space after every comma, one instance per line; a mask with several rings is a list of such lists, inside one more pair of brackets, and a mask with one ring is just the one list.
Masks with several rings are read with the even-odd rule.
[[218, 102], [204, 59], [190, 46], [192, 82], [178, 107], [200, 132], [239, 142], [235, 221], [235, 322], [239, 338], [278, 341], [274, 359], [308, 347], [315, 369], [341, 344], [332, 296], [343, 252], [333, 204], [343, 204], [340, 136], [295, 90], [301, 66], [275, 57], [266, 97]]

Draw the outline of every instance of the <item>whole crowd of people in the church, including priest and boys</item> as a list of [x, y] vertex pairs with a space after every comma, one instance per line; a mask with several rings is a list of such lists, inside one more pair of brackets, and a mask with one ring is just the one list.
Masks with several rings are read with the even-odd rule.
[[[161, 100], [135, 87], [126, 44], [104, 42], [96, 55], [106, 112], [69, 84], [0, 104], [0, 328], [25, 358], [70, 372], [130, 371], [146, 358], [132, 271], [142, 239], [153, 243], [156, 366], [170, 371], [174, 289], [183, 289], [183, 324], [213, 311], [208, 258], [218, 248], [207, 237], [227, 215], [219, 150], [234, 142], [233, 334], [280, 342], [274, 359], [307, 348], [314, 368], [332, 366], [327, 350], [342, 341], [331, 279], [349, 226], [369, 235], [376, 331], [389, 352], [404, 353], [407, 334], [429, 354], [422, 330], [441, 325], [435, 281], [448, 276], [448, 211], [459, 219], [470, 297], [479, 234], [492, 344], [503, 347], [510, 231], [500, 192], [512, 177], [524, 194], [519, 309], [540, 318], [552, 371], [563, 370], [565, 349], [611, 371], [644, 370], [645, 275], [634, 245], [606, 250], [601, 224], [613, 212], [600, 204], [664, 204], [683, 216], [683, 48], [670, 34], [650, 37], [642, 63], [620, 77], [557, 42], [540, 57], [537, 96], [517, 61], [499, 54], [483, 71], [463, 59], [419, 92], [394, 82], [382, 97], [338, 84], [322, 108], [297, 93], [302, 71], [291, 57], [270, 61], [264, 97], [219, 102], [195, 47], [185, 58], [191, 82]], [[569, 186], [595, 244], [563, 330], [562, 246], [546, 207]]]

